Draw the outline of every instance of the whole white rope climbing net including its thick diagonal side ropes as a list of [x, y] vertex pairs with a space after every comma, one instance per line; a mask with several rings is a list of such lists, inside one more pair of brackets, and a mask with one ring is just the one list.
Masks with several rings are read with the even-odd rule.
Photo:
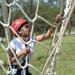
[[[62, 0], [61, 0], [62, 2]], [[7, 58], [8, 58], [8, 61], [10, 63], [10, 60], [9, 60], [9, 54], [8, 54], [8, 50], [9, 48], [11, 49], [14, 57], [16, 58], [16, 61], [17, 63], [19, 64], [19, 66], [24, 70], [27, 66], [33, 68], [35, 71], [37, 71], [40, 75], [55, 75], [56, 72], [55, 72], [55, 69], [56, 69], [56, 62], [57, 62], [57, 58], [58, 58], [58, 53], [59, 53], [59, 50], [60, 50], [60, 45], [61, 45], [61, 42], [62, 42], [62, 39], [63, 39], [63, 35], [64, 35], [64, 32], [66, 30], [66, 27], [68, 25], [68, 22], [70, 20], [70, 17], [72, 15], [72, 12], [73, 12], [73, 9], [75, 7], [75, 0], [66, 0], [66, 7], [64, 9], [64, 17], [65, 19], [62, 20], [62, 24], [61, 24], [61, 28], [60, 28], [60, 32], [58, 33], [57, 37], [56, 37], [56, 34], [57, 34], [57, 28], [56, 25], [54, 24], [51, 24], [50, 22], [48, 22], [45, 18], [41, 17], [38, 15], [38, 10], [39, 10], [39, 0], [37, 2], [37, 7], [36, 7], [36, 12], [35, 12], [35, 17], [33, 19], [30, 19], [28, 17], [28, 15], [25, 13], [25, 11], [21, 8], [21, 6], [16, 2], [16, 0], [13, 0], [12, 3], [10, 4], [7, 4], [5, 2], [5, 5], [7, 5], [9, 7], [9, 16], [8, 16], [8, 23], [5, 24], [3, 22], [0, 21], [0, 24], [5, 28], [5, 31], [6, 31], [6, 37], [7, 37], [7, 41], [8, 41], [8, 46], [5, 47], [3, 45], [3, 43], [1, 42], [2, 39], [0, 39], [0, 45], [1, 47], [3, 48], [3, 50], [5, 50], [6, 52], [6, 55], [7, 55]], [[19, 10], [21, 10], [21, 12], [24, 14], [25, 18], [28, 19], [28, 21], [30, 21], [32, 23], [32, 31], [31, 31], [31, 35], [30, 35], [30, 40], [28, 42], [25, 42], [23, 41], [20, 36], [13, 30], [13, 28], [10, 26], [10, 19], [11, 19], [11, 8], [12, 6], [17, 6], [19, 8]], [[55, 30], [55, 33], [54, 33], [54, 36], [53, 36], [53, 40], [52, 40], [52, 45], [51, 47], [46, 47], [45, 45], [43, 45], [41, 42], [38, 42], [38, 41], [35, 41], [35, 40], [32, 40], [32, 35], [33, 35], [33, 31], [34, 31], [34, 26], [35, 26], [35, 21], [38, 19], [46, 22], [48, 25], [50, 26], [54, 26], [56, 27], [56, 30]], [[18, 58], [16, 57], [16, 55], [14, 54], [13, 52], [13, 49], [10, 47], [9, 45], [9, 36], [8, 36], [8, 30], [7, 28], [11, 29], [16, 35], [17, 37], [20, 38], [20, 40], [24, 43], [24, 44], [30, 44], [31, 42], [36, 42], [38, 44], [40, 44], [41, 46], [43, 46], [45, 49], [47, 50], [50, 50], [50, 53], [49, 53], [49, 56], [44, 64], [44, 67], [42, 68], [42, 70], [40, 71], [39, 69], [37, 69], [36, 67], [34, 67], [33, 65], [29, 64], [27, 62], [28, 60], [28, 55], [26, 56], [26, 63], [24, 66], [22, 66], [19, 61], [18, 61]], [[53, 56], [54, 55], [54, 56]], [[51, 60], [52, 59], [52, 60]], [[50, 63], [51, 61], [51, 63]], [[5, 69], [4, 67], [4, 62], [3, 60], [0, 60], [0, 66], [2, 67], [2, 69], [4, 70], [4, 72], [9, 75], [11, 72], [12, 72], [12, 67], [11, 67], [11, 63], [10, 63], [10, 67], [11, 67], [11, 70], [8, 71], [7, 69]], [[25, 74], [25, 70], [24, 70], [24, 74]]]

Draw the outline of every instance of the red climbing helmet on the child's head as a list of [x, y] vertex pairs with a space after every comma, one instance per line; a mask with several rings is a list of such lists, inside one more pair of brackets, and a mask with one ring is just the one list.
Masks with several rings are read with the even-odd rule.
[[12, 26], [12, 28], [13, 28], [15, 31], [17, 31], [18, 28], [19, 28], [23, 23], [25, 23], [25, 22], [28, 22], [28, 21], [25, 20], [25, 19], [19, 18], [19, 19], [16, 19], [16, 20], [11, 24], [11, 26]]

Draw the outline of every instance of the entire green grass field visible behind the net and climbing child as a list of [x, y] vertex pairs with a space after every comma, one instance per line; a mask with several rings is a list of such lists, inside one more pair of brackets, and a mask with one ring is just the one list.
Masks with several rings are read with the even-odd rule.
[[[50, 42], [51, 40], [48, 39], [43, 41], [42, 43], [49, 47]], [[36, 44], [33, 61], [31, 64], [33, 64], [39, 70], [42, 70], [47, 56], [48, 50], [43, 48], [41, 45]], [[6, 54], [1, 47], [0, 47], [0, 59], [6, 62]], [[33, 75], [35, 74], [40, 75], [32, 68], [31, 71]], [[75, 75], [75, 35], [63, 37], [56, 65], [56, 73], [57, 75]], [[5, 75], [1, 67], [0, 67], [0, 75]]]

